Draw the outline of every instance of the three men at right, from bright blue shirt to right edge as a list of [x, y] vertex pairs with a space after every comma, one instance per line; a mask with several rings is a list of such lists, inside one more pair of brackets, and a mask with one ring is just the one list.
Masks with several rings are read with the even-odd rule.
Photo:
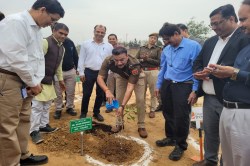
[[[180, 37], [176, 25], [166, 23], [160, 30], [160, 36], [169, 41], [170, 46], [161, 56], [156, 89], [158, 94], [161, 88], [164, 101], [166, 138], [156, 141], [156, 145], [175, 146], [169, 155], [171, 160], [179, 160], [187, 149], [190, 104], [195, 103], [197, 97], [204, 96], [205, 159], [193, 165], [216, 166], [220, 142], [223, 158], [220, 165], [246, 166], [250, 163], [247, 155], [250, 148], [247, 141], [249, 0], [243, 1], [238, 14], [240, 26], [232, 5], [212, 11], [210, 26], [216, 35], [207, 39], [202, 48]], [[185, 49], [191, 49], [193, 53]]]

